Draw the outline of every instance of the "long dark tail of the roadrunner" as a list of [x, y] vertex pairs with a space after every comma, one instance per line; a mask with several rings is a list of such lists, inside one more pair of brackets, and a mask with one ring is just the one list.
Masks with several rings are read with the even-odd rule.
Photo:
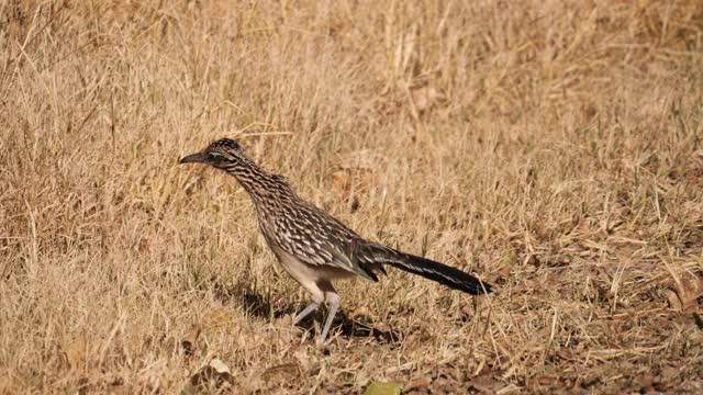
[[491, 292], [491, 284], [444, 263], [397, 251], [383, 246], [371, 245], [365, 247], [361, 253], [366, 259], [359, 257], [362, 260], [368, 259], [375, 263], [390, 264], [393, 268], [422, 275], [425, 279], [436, 281], [453, 290], [462, 291], [471, 295], [481, 295]]

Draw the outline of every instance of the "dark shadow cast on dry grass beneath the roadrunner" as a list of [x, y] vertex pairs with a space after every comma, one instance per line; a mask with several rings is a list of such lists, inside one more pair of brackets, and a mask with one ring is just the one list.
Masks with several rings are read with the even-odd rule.
[[[271, 298], [249, 286], [243, 286], [243, 284], [235, 284], [224, 286], [220, 284], [215, 286], [216, 297], [223, 302], [236, 303], [244, 309], [244, 312], [254, 317], [264, 319], [279, 319], [286, 316], [293, 316], [304, 306], [298, 306], [292, 303], [271, 303]], [[298, 324], [298, 327], [304, 330], [319, 329], [315, 328], [314, 321], [316, 316], [317, 321], [322, 323], [327, 312], [324, 306], [321, 306], [315, 314], [311, 314], [309, 317]], [[370, 321], [370, 317], [364, 317], [366, 321]], [[292, 320], [292, 319], [291, 319]], [[381, 330], [375, 328], [372, 325], [367, 325], [359, 320], [350, 319], [344, 311], [339, 309], [332, 324], [332, 330], [339, 330], [339, 334], [348, 338], [373, 338], [380, 343], [397, 343], [401, 340], [401, 335], [392, 329]]]

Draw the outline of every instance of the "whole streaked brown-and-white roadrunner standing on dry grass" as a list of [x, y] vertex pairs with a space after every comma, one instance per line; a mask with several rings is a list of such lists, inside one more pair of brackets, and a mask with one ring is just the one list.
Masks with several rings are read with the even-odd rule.
[[319, 345], [323, 346], [339, 307], [332, 281], [360, 275], [378, 281], [384, 264], [419, 274], [471, 295], [491, 285], [458, 269], [368, 241], [293, 192], [282, 176], [269, 173], [249, 159], [242, 146], [223, 138], [179, 163], [200, 162], [234, 176], [252, 198], [259, 227], [283, 269], [311, 294], [312, 303], [295, 316], [295, 325], [327, 303]]

